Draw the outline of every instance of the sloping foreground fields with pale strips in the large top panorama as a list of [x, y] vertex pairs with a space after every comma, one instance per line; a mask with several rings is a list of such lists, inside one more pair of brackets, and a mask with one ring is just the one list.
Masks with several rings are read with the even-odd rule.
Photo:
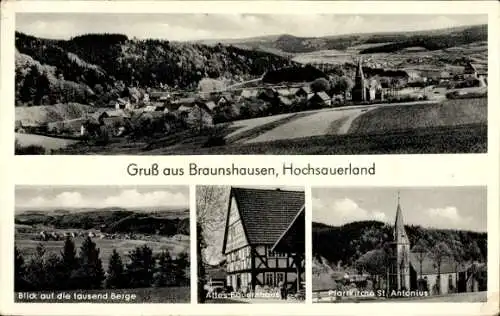
[[[487, 99], [423, 101], [328, 108], [255, 118], [218, 128], [225, 144], [189, 131], [154, 140], [76, 144], [61, 154], [356, 155], [484, 153]], [[369, 137], [367, 137], [369, 135]]]

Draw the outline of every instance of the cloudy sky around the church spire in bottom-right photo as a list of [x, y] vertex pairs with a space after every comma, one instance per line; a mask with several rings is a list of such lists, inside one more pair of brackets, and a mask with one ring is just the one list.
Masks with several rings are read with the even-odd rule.
[[394, 224], [398, 190], [406, 225], [487, 231], [485, 187], [317, 188], [312, 218], [332, 226], [361, 220]]

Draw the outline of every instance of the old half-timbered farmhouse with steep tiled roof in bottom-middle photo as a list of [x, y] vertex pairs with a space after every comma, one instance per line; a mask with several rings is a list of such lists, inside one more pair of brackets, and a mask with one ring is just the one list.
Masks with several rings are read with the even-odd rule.
[[222, 253], [235, 291], [302, 290], [304, 192], [231, 188]]

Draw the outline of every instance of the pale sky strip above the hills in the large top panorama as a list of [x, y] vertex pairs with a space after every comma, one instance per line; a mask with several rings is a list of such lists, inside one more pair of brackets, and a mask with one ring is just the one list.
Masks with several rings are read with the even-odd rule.
[[86, 33], [120, 33], [171, 41], [233, 39], [263, 35], [327, 36], [403, 32], [486, 24], [486, 15], [333, 14], [106, 14], [19, 13], [17, 31], [69, 39]]

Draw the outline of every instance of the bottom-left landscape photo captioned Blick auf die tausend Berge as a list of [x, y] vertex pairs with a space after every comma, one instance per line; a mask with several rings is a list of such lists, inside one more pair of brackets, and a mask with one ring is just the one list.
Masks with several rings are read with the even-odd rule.
[[15, 301], [189, 303], [189, 188], [17, 186]]

